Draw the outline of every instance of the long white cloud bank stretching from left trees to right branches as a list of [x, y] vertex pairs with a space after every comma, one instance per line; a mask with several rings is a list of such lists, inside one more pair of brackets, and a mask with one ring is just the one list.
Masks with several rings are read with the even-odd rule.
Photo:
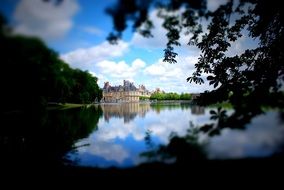
[[[97, 76], [99, 86], [103, 87], [105, 81], [112, 85], [121, 84], [123, 79], [145, 84], [149, 90], [159, 87], [167, 92], [203, 92], [208, 90], [208, 84], [197, 85], [188, 83], [186, 78], [194, 71], [194, 64], [198, 55], [179, 56], [177, 64], [164, 63], [162, 59], [154, 64], [146, 64], [137, 58], [132, 63], [110, 61], [110, 58], [123, 55], [128, 50], [128, 44], [120, 42], [110, 45], [104, 42], [98, 46], [78, 49], [61, 56], [72, 67], [89, 70]], [[136, 85], [137, 85], [136, 84]]]

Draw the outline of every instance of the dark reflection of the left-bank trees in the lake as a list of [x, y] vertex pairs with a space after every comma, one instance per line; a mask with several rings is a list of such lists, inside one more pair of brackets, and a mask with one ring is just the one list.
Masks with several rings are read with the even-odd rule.
[[78, 139], [97, 129], [100, 107], [4, 113], [0, 128], [2, 166], [56, 166]]

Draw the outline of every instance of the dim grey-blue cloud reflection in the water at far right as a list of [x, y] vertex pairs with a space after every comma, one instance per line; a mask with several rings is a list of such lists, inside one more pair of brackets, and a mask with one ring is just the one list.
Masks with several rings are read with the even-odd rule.
[[245, 130], [222, 131], [210, 140], [211, 158], [242, 158], [269, 156], [284, 143], [284, 126], [277, 123], [277, 114], [268, 113], [253, 119]]

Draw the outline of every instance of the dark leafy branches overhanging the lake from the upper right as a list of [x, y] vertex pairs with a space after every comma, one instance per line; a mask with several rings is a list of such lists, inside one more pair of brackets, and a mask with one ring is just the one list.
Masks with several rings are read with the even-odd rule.
[[[263, 113], [263, 107], [283, 108], [283, 6], [265, 0], [228, 0], [212, 12], [206, 3], [206, 0], [120, 0], [108, 9], [115, 29], [108, 39], [115, 43], [121, 38], [128, 20], [133, 21], [135, 31], [152, 37], [154, 26], [148, 13], [156, 6], [167, 30], [164, 61], [177, 62], [174, 47], [180, 45], [182, 31], [190, 35], [188, 44], [201, 51], [196, 70], [187, 81], [202, 84], [205, 73], [214, 90], [200, 96], [200, 104], [229, 102], [235, 110], [227, 119], [230, 127], [244, 125]], [[202, 30], [204, 20], [209, 22], [207, 31]], [[229, 47], [240, 40], [245, 30], [259, 41], [258, 46], [230, 56]]]

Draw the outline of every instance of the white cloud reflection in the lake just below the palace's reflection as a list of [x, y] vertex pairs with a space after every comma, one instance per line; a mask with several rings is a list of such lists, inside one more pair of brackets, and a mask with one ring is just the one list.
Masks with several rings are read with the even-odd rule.
[[[168, 109], [161, 109], [160, 113], [158, 113], [157, 110], [147, 109], [146, 112], [149, 112], [146, 117], [147, 120], [144, 120], [143, 117], [137, 117], [134, 120], [130, 120], [128, 123], [124, 122], [124, 117], [128, 118], [129, 113], [116, 110], [119, 108], [122, 109], [121, 105], [109, 105], [109, 107], [104, 107], [104, 112], [108, 114], [111, 112], [112, 114], [116, 113], [120, 117], [113, 115], [113, 117], [108, 118], [109, 121], [100, 120], [98, 126], [101, 127], [94, 136], [100, 139], [100, 141], [125, 139], [128, 136], [132, 136], [136, 141], [141, 141], [144, 139], [145, 131], [150, 129], [159, 141], [167, 143], [171, 132], [185, 135], [189, 127], [189, 121], [192, 121], [194, 125], [203, 125], [208, 122], [209, 119], [208, 110], [204, 113], [205, 115], [193, 115], [188, 109], [181, 110], [180, 107], [176, 106], [174, 106], [176, 109], [173, 109], [171, 105], [164, 107]], [[137, 107], [137, 112], [139, 112], [139, 108], [140, 107]]]

